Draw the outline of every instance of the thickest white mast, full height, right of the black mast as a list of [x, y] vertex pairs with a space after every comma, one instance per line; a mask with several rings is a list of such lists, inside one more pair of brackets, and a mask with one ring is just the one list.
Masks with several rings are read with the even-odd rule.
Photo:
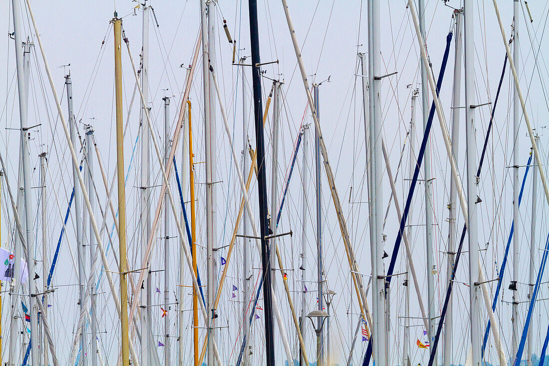
[[383, 267], [383, 188], [381, 108], [379, 105], [380, 68], [379, 0], [368, 1], [368, 107], [369, 107], [369, 181], [370, 237], [372, 256], [372, 337], [377, 366], [386, 366], [385, 358], [385, 278]]

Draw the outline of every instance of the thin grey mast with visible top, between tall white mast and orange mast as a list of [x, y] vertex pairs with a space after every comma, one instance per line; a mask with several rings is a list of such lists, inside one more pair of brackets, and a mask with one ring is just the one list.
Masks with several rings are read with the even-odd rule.
[[[170, 98], [162, 98], [164, 101], [164, 164], [167, 166], [170, 159]], [[167, 193], [164, 202], [168, 201]], [[170, 210], [164, 208], [164, 309], [169, 309], [170, 304]], [[170, 317], [164, 317], [164, 364], [170, 365]]]

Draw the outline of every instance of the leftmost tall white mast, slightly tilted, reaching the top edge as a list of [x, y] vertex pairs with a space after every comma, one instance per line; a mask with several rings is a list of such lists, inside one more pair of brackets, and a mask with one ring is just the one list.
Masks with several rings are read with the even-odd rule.
[[[21, 155], [21, 163], [23, 164], [23, 195], [24, 195], [24, 204], [25, 204], [25, 241], [28, 246], [27, 250], [27, 267], [29, 268], [29, 294], [36, 293], [36, 282], [34, 280], [35, 278], [35, 266], [34, 266], [34, 260], [35, 258], [33, 254], [35, 253], [35, 242], [33, 241], [33, 235], [32, 235], [32, 208], [31, 208], [31, 194], [30, 194], [30, 188], [31, 188], [31, 171], [30, 171], [30, 163], [29, 163], [29, 151], [28, 146], [26, 143], [26, 136], [27, 136], [27, 96], [25, 95], [25, 81], [24, 81], [24, 63], [23, 63], [23, 48], [21, 48], [21, 36], [23, 35], [23, 32], [20, 27], [20, 15], [19, 15], [19, 2], [16, 0], [12, 0], [12, 8], [13, 8], [13, 30], [15, 32], [14, 34], [14, 40], [15, 40], [15, 60], [16, 60], [16, 68], [17, 68], [17, 84], [18, 84], [18, 92], [19, 92], [19, 118], [21, 121], [21, 143], [23, 145], [23, 154]], [[30, 52], [30, 51], [29, 51]], [[27, 74], [28, 75], [28, 74]], [[20, 260], [16, 257], [15, 263], [19, 263]], [[17, 267], [15, 267], [17, 268]], [[17, 270], [17, 269], [16, 269]], [[18, 272], [19, 275], [19, 272]], [[29, 308], [30, 308], [30, 317], [31, 317], [31, 334], [30, 339], [33, 345], [38, 345], [38, 309], [37, 309], [37, 303], [36, 303], [36, 296], [29, 296]], [[32, 364], [36, 365], [38, 364], [38, 347], [32, 347], [31, 348], [31, 360]], [[12, 363], [14, 363], [14, 360], [12, 360]]]

